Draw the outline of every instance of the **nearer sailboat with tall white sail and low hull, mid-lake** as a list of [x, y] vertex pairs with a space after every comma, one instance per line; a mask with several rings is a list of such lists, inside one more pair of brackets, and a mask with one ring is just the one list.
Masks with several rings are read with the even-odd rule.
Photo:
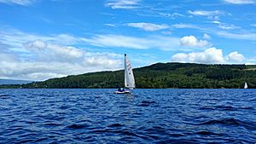
[[114, 94], [129, 94], [131, 90], [135, 88], [135, 79], [133, 76], [131, 62], [128, 59], [127, 55], [125, 54], [125, 88], [128, 89], [119, 89], [114, 91]]

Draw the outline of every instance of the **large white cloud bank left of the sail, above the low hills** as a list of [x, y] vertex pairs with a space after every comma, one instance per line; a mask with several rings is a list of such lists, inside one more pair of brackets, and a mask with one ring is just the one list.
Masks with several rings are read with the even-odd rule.
[[91, 53], [71, 44], [81, 43], [82, 39], [67, 34], [45, 37], [0, 29], [0, 78], [45, 80], [122, 68], [120, 56]]

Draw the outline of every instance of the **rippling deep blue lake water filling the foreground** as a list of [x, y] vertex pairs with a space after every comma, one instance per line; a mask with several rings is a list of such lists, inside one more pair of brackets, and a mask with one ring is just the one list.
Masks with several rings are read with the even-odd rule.
[[0, 143], [255, 143], [255, 89], [0, 89]]

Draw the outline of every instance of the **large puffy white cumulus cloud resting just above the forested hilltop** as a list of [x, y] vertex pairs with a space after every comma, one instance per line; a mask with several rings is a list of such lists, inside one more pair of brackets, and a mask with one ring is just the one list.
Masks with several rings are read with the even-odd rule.
[[203, 52], [192, 52], [189, 54], [178, 53], [172, 55], [172, 61], [176, 62], [195, 62], [204, 64], [223, 64], [223, 63], [236, 63], [242, 62], [244, 56], [238, 52], [231, 52], [229, 55], [224, 56], [222, 49], [210, 48]]

